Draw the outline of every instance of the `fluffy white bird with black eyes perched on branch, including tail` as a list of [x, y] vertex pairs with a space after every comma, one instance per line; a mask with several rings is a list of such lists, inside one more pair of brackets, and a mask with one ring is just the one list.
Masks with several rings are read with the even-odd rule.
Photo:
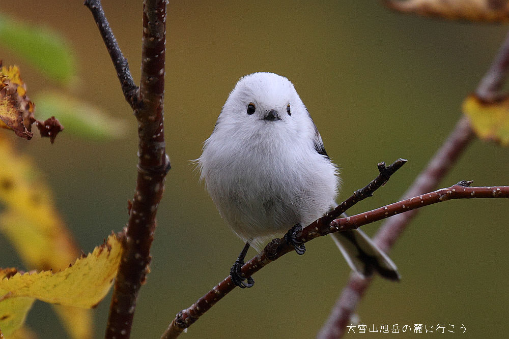
[[[240, 274], [249, 245], [260, 251], [290, 230], [285, 238], [303, 254], [292, 235], [336, 206], [337, 167], [293, 84], [274, 73], [239, 80], [197, 162], [221, 217], [246, 242], [231, 269], [240, 287], [254, 283]], [[394, 263], [362, 231], [331, 235], [359, 274], [399, 279]]]

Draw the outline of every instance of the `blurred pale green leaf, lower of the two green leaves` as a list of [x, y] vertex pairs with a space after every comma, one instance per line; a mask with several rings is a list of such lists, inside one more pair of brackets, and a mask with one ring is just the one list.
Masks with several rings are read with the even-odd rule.
[[34, 99], [37, 116], [58, 116], [66, 134], [109, 140], [125, 135], [127, 121], [108, 116], [103, 110], [65, 93], [46, 92]]

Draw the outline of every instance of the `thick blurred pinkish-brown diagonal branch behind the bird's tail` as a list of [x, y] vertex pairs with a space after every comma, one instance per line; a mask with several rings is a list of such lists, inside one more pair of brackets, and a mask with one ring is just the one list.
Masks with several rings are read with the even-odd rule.
[[[479, 99], [485, 102], [497, 100], [500, 97], [499, 91], [505, 82], [508, 70], [509, 33], [493, 59], [490, 69], [475, 90]], [[474, 134], [468, 118], [462, 116], [457, 122], [455, 129], [435, 153], [428, 166], [416, 177], [402, 199], [434, 189], [448, 173], [449, 169], [454, 166], [470, 144], [470, 141], [473, 140], [473, 137]], [[388, 252], [417, 212], [418, 210], [413, 210], [387, 220], [373, 239], [380, 249]], [[318, 339], [338, 338], [345, 334], [345, 329], [350, 322], [352, 314], [355, 312], [365, 291], [370, 286], [371, 281], [371, 279], [362, 279], [355, 274], [350, 276], [347, 286], [336, 300], [328, 319], [320, 329], [317, 335]]]

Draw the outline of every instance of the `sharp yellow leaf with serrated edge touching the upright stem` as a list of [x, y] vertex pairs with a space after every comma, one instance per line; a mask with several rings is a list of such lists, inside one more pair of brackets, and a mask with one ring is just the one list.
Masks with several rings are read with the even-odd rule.
[[67, 306], [95, 307], [111, 287], [121, 254], [121, 240], [112, 234], [87, 257], [77, 259], [74, 265], [60, 272], [0, 270], [0, 290], [9, 293], [2, 302], [30, 297]]

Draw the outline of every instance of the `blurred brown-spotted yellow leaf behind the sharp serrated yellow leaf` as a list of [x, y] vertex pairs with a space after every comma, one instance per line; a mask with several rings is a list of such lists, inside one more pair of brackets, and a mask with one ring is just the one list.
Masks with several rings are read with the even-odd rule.
[[[0, 231], [12, 242], [26, 267], [58, 271], [79, 257], [80, 251], [54, 206], [49, 188], [30, 159], [16, 154], [5, 133], [0, 133], [0, 205]], [[90, 310], [62, 305], [53, 308], [71, 337], [92, 337]]]

